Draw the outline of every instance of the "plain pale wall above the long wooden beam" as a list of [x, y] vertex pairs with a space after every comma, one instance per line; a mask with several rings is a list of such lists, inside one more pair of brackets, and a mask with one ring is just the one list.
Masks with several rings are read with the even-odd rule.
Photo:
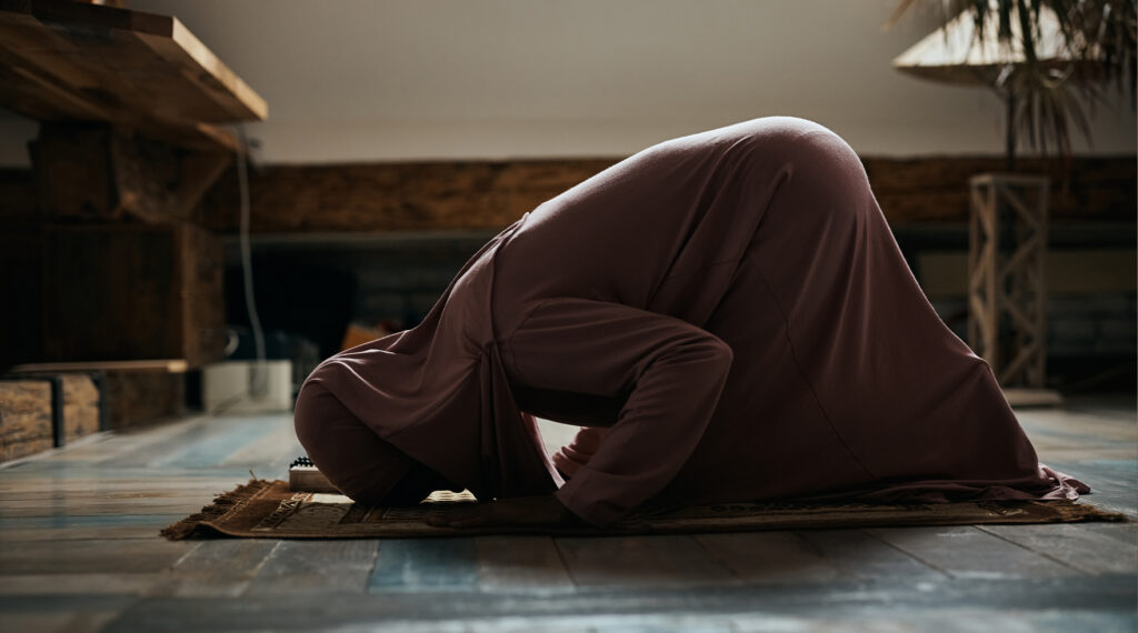
[[[266, 163], [619, 156], [758, 116], [827, 125], [864, 155], [1000, 153], [984, 89], [890, 60], [930, 10], [900, 0], [132, 0], [184, 22], [270, 105]], [[929, 5], [931, 0], [925, 0]], [[1112, 100], [1090, 153], [1133, 153]], [[34, 125], [0, 118], [0, 164]], [[1079, 143], [1081, 152], [1088, 152]]]

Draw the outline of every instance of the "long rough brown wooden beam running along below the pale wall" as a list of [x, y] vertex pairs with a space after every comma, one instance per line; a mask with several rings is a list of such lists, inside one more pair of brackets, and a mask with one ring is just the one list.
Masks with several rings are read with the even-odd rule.
[[[494, 230], [617, 163], [618, 158], [281, 165], [250, 172], [257, 233]], [[966, 223], [968, 178], [998, 157], [865, 157], [869, 184], [892, 225]], [[1133, 156], [1075, 158], [1070, 174], [1038, 159], [1025, 172], [1052, 178], [1052, 217], [1133, 219]], [[204, 225], [237, 230], [237, 178], [224, 174], [200, 209]]]

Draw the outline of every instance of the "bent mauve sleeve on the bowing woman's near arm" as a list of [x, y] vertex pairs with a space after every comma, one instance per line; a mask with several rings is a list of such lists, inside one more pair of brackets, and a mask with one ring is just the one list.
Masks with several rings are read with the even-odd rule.
[[538, 303], [505, 343], [504, 366], [522, 385], [628, 393], [596, 453], [555, 493], [599, 526], [676, 475], [711, 419], [733, 358], [726, 343], [684, 320], [577, 298]]

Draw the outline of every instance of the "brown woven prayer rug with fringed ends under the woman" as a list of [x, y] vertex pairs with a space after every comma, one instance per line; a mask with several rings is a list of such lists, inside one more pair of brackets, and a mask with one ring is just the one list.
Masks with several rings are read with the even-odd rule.
[[164, 528], [171, 540], [204, 536], [264, 539], [374, 539], [476, 534], [602, 536], [762, 530], [897, 527], [1009, 523], [1127, 522], [1125, 515], [1072, 501], [967, 501], [907, 505], [719, 503], [681, 510], [640, 513], [619, 525], [584, 523], [559, 527], [456, 530], [423, 518], [473, 502], [468, 493], [436, 492], [413, 508], [370, 508], [340, 494], [294, 492], [288, 482], [249, 480], [214, 499], [201, 511]]

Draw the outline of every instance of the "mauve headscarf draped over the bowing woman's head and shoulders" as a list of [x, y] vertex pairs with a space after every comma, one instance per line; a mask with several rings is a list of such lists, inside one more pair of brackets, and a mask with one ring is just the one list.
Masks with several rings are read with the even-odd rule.
[[[338, 467], [372, 491], [390, 490], [410, 469], [406, 459], [479, 499], [556, 490], [562, 481], [541, 448], [536, 422], [514, 403], [490, 310], [494, 253], [528, 216], [467, 261], [422, 323], [337, 353], [312, 372], [297, 402], [297, 436], [306, 449], [302, 433], [314, 447], [351, 451]], [[335, 398], [382, 442], [361, 440], [348, 449], [341, 445], [346, 440], [318, 439], [331, 423], [305, 402], [310, 392], [316, 402], [321, 393]], [[300, 419], [308, 415], [315, 418]], [[387, 464], [369, 469], [369, 459]]]

